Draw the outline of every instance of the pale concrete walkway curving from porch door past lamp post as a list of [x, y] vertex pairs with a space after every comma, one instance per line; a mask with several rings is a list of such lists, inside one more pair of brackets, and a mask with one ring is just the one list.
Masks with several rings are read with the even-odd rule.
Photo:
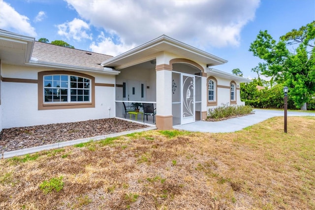
[[[236, 117], [218, 122], [197, 121], [185, 125], [173, 126], [173, 128], [204, 133], [229, 133], [240, 131], [248, 126], [257, 124], [275, 116], [284, 116], [284, 111], [254, 109], [254, 114], [243, 117]], [[315, 116], [315, 113], [288, 111], [287, 116]]]

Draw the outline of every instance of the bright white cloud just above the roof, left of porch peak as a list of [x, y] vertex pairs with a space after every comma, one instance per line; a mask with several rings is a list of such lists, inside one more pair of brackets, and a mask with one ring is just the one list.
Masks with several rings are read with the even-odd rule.
[[103, 32], [98, 36], [98, 42], [92, 42], [90, 45], [90, 48], [93, 52], [111, 56], [117, 56], [134, 47], [135, 45], [126, 45], [121, 42], [121, 40], [119, 43], [117, 43], [117, 41], [114, 43], [113, 39], [111, 37], [105, 37]]

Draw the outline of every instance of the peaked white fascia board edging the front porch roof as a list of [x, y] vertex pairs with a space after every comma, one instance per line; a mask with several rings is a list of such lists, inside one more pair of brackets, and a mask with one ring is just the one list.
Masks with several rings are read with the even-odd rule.
[[203, 56], [203, 57], [207, 57], [207, 58], [210, 58], [212, 60], [216, 60], [217, 62], [219, 62], [221, 64], [227, 63], [227, 60], [224, 60], [224, 59], [219, 58], [217, 56], [214, 56], [214, 55], [212, 55], [210, 53], [207, 53], [205, 51], [202, 51], [200, 49], [192, 47], [192, 46], [190, 46], [188, 44], [180, 42], [180, 41], [178, 41], [176, 39], [173, 39], [173, 38], [171, 38], [169, 36], [161, 35], [158, 38], [153, 39], [153, 40], [151, 40], [149, 42], [146, 42], [146, 43], [144, 43], [144, 44], [142, 44], [142, 45], [140, 45], [138, 47], [135, 47], [135, 48], [133, 48], [131, 50], [128, 50], [127, 52], [125, 52], [123, 54], [120, 54], [120, 55], [118, 55], [116, 57], [108, 59], [108, 60], [102, 62], [100, 65], [106, 66], [106, 65], [108, 65], [108, 64], [110, 64], [112, 62], [119, 61], [119, 60], [124, 59], [124, 58], [126, 58], [128, 56], [134, 55], [136, 53], [139, 53], [139, 52], [144, 51], [146, 49], [149, 49], [151, 47], [157, 46], [158, 44], [161, 44], [161, 43], [167, 43], [167, 44], [170, 44], [172, 46], [175, 46], [175, 47], [184, 49], [186, 51], [192, 52], [194, 54], [197, 54], [197, 55], [200, 55], [200, 56]]

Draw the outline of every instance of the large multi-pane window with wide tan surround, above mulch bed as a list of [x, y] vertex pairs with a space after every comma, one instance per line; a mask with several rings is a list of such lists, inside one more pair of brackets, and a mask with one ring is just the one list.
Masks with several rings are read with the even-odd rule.
[[38, 109], [95, 107], [95, 78], [73, 71], [38, 72]]

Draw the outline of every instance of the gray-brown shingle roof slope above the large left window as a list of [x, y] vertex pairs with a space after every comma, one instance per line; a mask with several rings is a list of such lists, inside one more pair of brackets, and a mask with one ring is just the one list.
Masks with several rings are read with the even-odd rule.
[[112, 57], [39, 41], [34, 42], [32, 51], [32, 61], [99, 70], [103, 69], [100, 63]]

